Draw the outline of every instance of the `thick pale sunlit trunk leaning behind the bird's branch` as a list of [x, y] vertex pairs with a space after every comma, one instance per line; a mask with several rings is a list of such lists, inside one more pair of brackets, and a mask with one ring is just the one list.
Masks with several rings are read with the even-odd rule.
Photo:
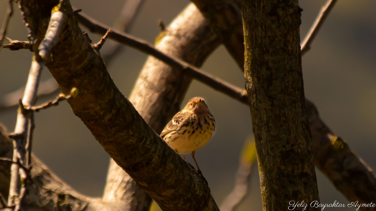
[[[219, 39], [213, 35], [196, 6], [190, 4], [166, 28], [156, 48], [201, 66], [219, 44]], [[182, 71], [149, 56], [129, 99], [159, 134], [179, 110], [190, 82], [191, 78], [182, 74]], [[141, 206], [149, 210], [148, 204], [144, 203], [146, 198], [138, 197], [143, 196], [143, 193], [139, 185], [111, 159], [103, 200], [120, 201], [123, 206], [140, 208], [135, 210], [142, 210]]]

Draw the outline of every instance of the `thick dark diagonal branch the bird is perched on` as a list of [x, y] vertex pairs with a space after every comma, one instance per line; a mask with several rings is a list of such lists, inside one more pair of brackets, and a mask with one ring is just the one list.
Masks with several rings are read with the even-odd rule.
[[[54, 1], [21, 1], [26, 21], [41, 39]], [[64, 3], [68, 4], [68, 2]], [[69, 5], [67, 12], [71, 12]], [[48, 12], [47, 12], [48, 11]], [[205, 181], [180, 158], [121, 94], [100, 56], [78, 27], [66, 19], [53, 62], [46, 63], [76, 116], [114, 159], [152, 198], [168, 210], [218, 210]]]

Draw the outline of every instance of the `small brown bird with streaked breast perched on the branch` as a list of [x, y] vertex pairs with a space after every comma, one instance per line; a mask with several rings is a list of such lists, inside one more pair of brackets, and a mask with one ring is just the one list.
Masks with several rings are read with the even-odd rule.
[[197, 172], [202, 175], [194, 155], [205, 146], [215, 129], [215, 119], [201, 97], [188, 101], [184, 109], [171, 119], [161, 133], [162, 139], [179, 154], [191, 152]]

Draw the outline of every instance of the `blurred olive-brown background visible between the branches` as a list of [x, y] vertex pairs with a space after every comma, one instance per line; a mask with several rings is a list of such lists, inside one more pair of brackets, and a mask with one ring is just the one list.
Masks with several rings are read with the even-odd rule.
[[[168, 25], [188, 3], [187, 0], [146, 0], [130, 34], [153, 43], [159, 34], [158, 20]], [[324, 3], [325, 0], [299, 1], [304, 10], [300, 27], [302, 40]], [[124, 1], [71, 0], [71, 4], [111, 26]], [[7, 1], [1, 1], [0, 23], [3, 23], [6, 9]], [[346, 140], [372, 169], [376, 169], [375, 13], [375, 1], [338, 1], [312, 49], [303, 57], [306, 97], [315, 103], [329, 128]], [[82, 30], [87, 31], [84, 27]], [[27, 40], [26, 28], [15, 5], [7, 36], [14, 40]], [[93, 42], [100, 39], [98, 35], [89, 33], [89, 36]], [[28, 50], [3, 49], [0, 52], [0, 97], [26, 83], [31, 57], [32, 53]], [[107, 65], [115, 84], [125, 96], [129, 95], [146, 58], [146, 54], [127, 47]], [[208, 58], [202, 69], [244, 87], [242, 71], [223, 46]], [[42, 81], [48, 78], [51, 75], [44, 69]], [[219, 205], [233, 188], [241, 148], [246, 138], [252, 135], [249, 107], [197, 81], [193, 81], [183, 104], [193, 96], [205, 98], [217, 122], [211, 141], [197, 151], [196, 159]], [[37, 104], [47, 100], [41, 98]], [[233, 108], [233, 112], [228, 112], [228, 108]], [[35, 117], [33, 152], [77, 191], [89, 196], [102, 196], [109, 155], [74, 116], [67, 102], [42, 110]], [[0, 122], [10, 131], [14, 129], [15, 121], [16, 109], [0, 112]], [[190, 156], [186, 157], [192, 163]], [[331, 182], [318, 170], [316, 173], [321, 203], [337, 200], [347, 205], [347, 199]], [[258, 172], [253, 172], [250, 193], [238, 210], [251, 209], [262, 210]]]

